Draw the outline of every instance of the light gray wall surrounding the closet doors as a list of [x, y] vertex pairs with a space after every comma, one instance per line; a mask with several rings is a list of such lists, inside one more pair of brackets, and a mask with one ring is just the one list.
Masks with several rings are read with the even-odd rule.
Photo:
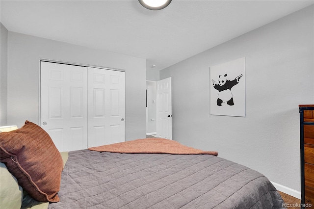
[[39, 123], [39, 59], [125, 70], [126, 138], [145, 138], [146, 60], [49, 39], [8, 32], [8, 124]]

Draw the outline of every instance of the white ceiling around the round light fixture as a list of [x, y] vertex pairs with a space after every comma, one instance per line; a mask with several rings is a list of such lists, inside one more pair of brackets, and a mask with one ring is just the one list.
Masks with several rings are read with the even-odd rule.
[[[300, 10], [314, 0], [1, 0], [9, 30], [146, 58], [161, 70]], [[155, 64], [155, 68], [151, 66]]]

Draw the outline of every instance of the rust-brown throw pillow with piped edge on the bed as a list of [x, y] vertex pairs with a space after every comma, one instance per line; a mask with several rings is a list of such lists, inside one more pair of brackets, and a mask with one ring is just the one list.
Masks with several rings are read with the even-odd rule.
[[62, 157], [49, 134], [29, 121], [0, 133], [0, 161], [35, 200], [58, 202]]

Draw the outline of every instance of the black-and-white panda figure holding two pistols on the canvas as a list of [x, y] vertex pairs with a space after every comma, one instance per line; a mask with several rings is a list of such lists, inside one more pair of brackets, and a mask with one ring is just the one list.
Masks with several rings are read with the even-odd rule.
[[227, 74], [220, 75], [218, 78], [218, 84], [213, 79], [211, 80], [213, 87], [219, 91], [218, 99], [217, 99], [218, 106], [221, 106], [222, 103], [225, 103], [225, 102], [227, 102], [228, 105], [235, 104], [233, 95], [231, 92], [231, 88], [235, 86], [236, 84], [238, 84], [239, 79], [242, 76], [243, 75], [241, 74], [238, 77], [236, 77], [234, 80], [229, 80], [229, 78], [227, 77]]

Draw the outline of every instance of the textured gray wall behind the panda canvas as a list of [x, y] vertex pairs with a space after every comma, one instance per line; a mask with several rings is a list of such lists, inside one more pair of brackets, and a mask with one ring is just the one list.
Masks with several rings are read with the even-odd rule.
[[[298, 104], [314, 104], [313, 51], [312, 5], [160, 71], [172, 77], [173, 139], [300, 191]], [[210, 115], [209, 67], [240, 57], [246, 117]]]

